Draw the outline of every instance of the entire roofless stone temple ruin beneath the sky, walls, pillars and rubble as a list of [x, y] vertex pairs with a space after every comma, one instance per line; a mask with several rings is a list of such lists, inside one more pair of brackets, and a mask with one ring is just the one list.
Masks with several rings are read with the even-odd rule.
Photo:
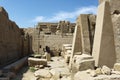
[[0, 36], [0, 80], [120, 80], [120, 0], [27, 29], [0, 7]]

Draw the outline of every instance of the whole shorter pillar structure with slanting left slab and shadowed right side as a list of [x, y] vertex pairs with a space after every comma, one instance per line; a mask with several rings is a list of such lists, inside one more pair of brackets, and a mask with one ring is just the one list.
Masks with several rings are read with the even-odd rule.
[[92, 54], [95, 21], [95, 15], [81, 14], [77, 18], [69, 67], [77, 52]]

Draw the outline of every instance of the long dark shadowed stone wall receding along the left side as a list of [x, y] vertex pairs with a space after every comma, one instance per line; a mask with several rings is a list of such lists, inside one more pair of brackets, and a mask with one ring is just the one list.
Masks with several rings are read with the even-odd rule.
[[0, 37], [0, 67], [32, 52], [31, 37], [9, 19], [3, 7], [0, 7]]

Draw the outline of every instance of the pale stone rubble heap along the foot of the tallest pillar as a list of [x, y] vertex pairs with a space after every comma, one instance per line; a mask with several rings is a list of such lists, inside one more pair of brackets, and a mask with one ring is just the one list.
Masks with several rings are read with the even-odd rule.
[[74, 80], [120, 80], [120, 63], [116, 63], [113, 69], [107, 66], [95, 70], [78, 71]]

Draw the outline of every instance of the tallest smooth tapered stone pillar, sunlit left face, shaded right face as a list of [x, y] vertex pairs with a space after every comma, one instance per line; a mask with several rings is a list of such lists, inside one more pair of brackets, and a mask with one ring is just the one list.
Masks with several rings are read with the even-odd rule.
[[97, 67], [107, 65], [111, 68], [116, 62], [109, 2], [103, 2], [98, 7], [92, 55]]

